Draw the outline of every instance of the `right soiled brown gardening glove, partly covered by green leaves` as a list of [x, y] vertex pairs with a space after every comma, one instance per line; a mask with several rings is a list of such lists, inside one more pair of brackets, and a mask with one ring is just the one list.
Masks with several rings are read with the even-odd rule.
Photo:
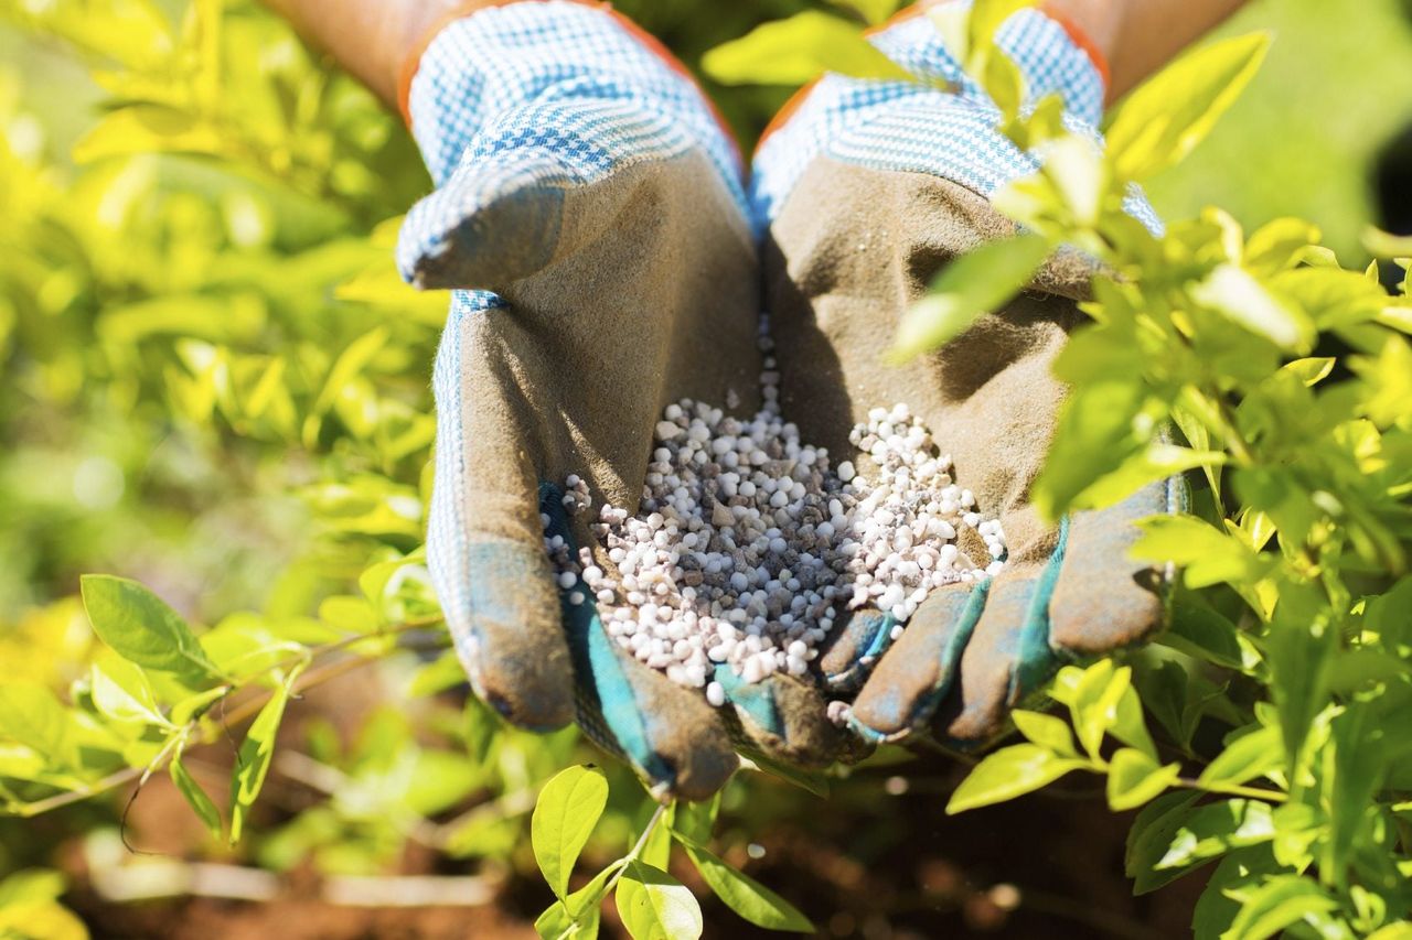
[[[1076, 302], [1093, 274], [1077, 253], [1060, 253], [1028, 291], [945, 349], [884, 363], [901, 315], [940, 268], [1015, 233], [987, 196], [1039, 162], [994, 130], [998, 110], [925, 16], [914, 10], [871, 41], [931, 85], [829, 75], [764, 140], [753, 199], [768, 224], [767, 306], [781, 408], [808, 439], [843, 453], [849, 428], [871, 408], [905, 402], [953, 457], [977, 508], [1001, 522], [1001, 574], [933, 591], [905, 631], [858, 611], [820, 658], [833, 689], [863, 686], [850, 717], [863, 735], [897, 741], [931, 728], [966, 748], [1003, 731], [1059, 662], [1128, 646], [1161, 624], [1161, 573], [1127, 552], [1132, 522], [1172, 511], [1179, 487], [1148, 487], [1058, 528], [1031, 505], [1065, 397], [1051, 364], [1083, 322]], [[1022, 10], [998, 44], [1025, 73], [1031, 102], [1059, 93], [1067, 126], [1097, 138], [1103, 69], [1082, 40]], [[946, 83], [955, 90], [940, 90]], [[1158, 226], [1141, 199], [1130, 212]], [[962, 534], [962, 552], [986, 567], [981, 539]]]

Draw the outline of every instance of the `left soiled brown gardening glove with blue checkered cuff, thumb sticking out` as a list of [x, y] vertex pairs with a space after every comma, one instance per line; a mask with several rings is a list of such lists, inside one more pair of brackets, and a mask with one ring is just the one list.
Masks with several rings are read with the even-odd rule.
[[758, 402], [738, 155], [681, 66], [606, 7], [477, 6], [408, 82], [438, 189], [397, 253], [412, 284], [455, 288], [426, 552], [472, 686], [528, 728], [576, 714], [662, 796], [716, 792], [733, 741], [827, 762], [844, 735], [816, 687], [777, 675], [713, 709], [611, 639], [545, 550], [593, 545], [565, 512], [569, 474], [594, 507], [637, 510], [668, 404]]

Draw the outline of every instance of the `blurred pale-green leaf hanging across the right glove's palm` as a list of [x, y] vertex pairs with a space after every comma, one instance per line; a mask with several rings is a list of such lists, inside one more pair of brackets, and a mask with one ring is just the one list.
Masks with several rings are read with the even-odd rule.
[[956, 339], [1022, 291], [1046, 257], [1045, 239], [1018, 236], [986, 243], [956, 258], [936, 277], [928, 295], [902, 316], [888, 357], [908, 360]]

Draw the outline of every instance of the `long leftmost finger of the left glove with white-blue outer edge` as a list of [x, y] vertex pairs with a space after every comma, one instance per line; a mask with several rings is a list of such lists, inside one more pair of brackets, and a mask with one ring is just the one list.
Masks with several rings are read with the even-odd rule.
[[470, 325], [497, 303], [491, 295], [456, 295], [436, 354], [426, 559], [474, 692], [508, 721], [549, 730], [573, 720], [573, 673], [535, 474], [524, 450], [503, 440], [513, 429], [486, 421], [463, 395]]

